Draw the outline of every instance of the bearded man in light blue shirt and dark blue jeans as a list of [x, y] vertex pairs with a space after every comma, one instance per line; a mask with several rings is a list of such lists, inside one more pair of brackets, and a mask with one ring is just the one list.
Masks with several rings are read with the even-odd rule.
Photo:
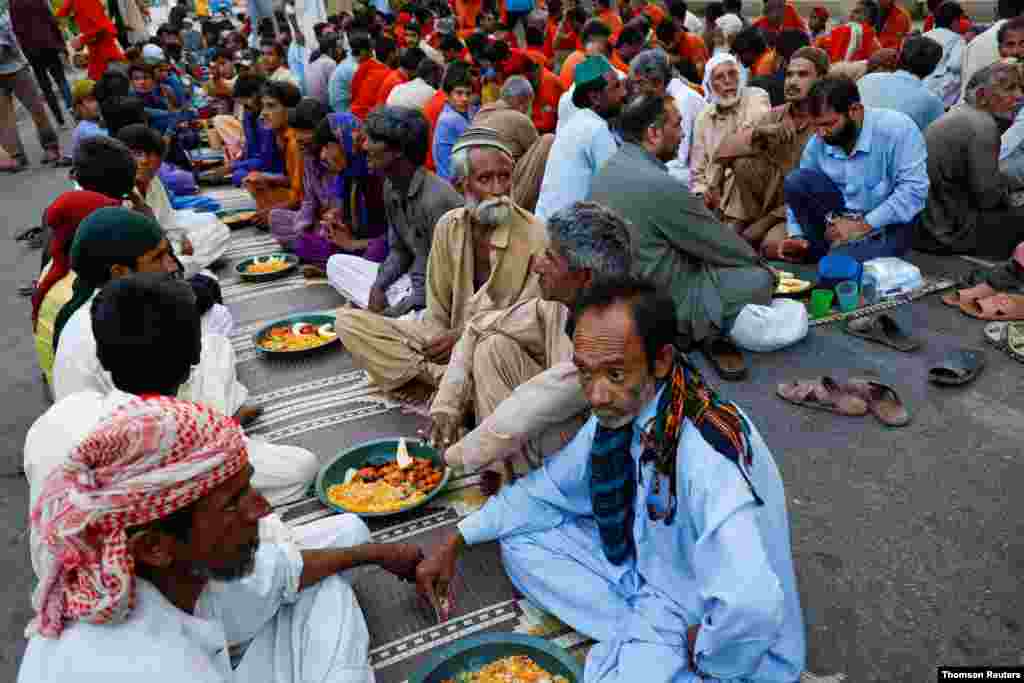
[[928, 152], [900, 112], [864, 109], [857, 85], [824, 78], [808, 95], [818, 134], [785, 178], [779, 256], [817, 262], [831, 252], [866, 261], [902, 256], [928, 201]]

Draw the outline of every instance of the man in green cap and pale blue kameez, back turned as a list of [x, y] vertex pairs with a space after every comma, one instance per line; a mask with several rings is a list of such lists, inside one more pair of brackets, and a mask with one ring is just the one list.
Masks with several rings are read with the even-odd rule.
[[618, 151], [608, 119], [623, 108], [624, 82], [603, 56], [580, 62], [573, 81], [572, 103], [580, 111], [558, 130], [551, 145], [534, 212], [541, 220], [587, 199], [594, 176]]

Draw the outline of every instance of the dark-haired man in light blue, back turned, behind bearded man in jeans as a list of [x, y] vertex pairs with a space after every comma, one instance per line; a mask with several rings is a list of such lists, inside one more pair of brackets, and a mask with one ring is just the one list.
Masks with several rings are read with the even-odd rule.
[[869, 109], [902, 112], [924, 133], [946, 111], [942, 99], [924, 81], [941, 59], [942, 46], [937, 41], [924, 36], [907, 38], [900, 49], [898, 71], [877, 72], [857, 81], [860, 102]]

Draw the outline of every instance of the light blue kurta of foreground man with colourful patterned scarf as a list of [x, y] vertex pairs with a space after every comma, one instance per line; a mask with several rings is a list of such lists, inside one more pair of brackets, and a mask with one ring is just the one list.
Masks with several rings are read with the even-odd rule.
[[[715, 451], [687, 420], [676, 452], [679, 507], [675, 520], [670, 524], [652, 520], [647, 501], [657, 475], [653, 463], [640, 464], [641, 431], [654, 417], [657, 398], [633, 422], [630, 454], [639, 475], [635, 553], [623, 564], [605, 565], [603, 579], [628, 601], [658, 596], [665, 608], [657, 610], [653, 626], [659, 634], [682, 634], [688, 626], [699, 624], [694, 653], [706, 674], [716, 679], [792, 683], [805, 664], [804, 622], [793, 570], [785, 494], [771, 452], [750, 424], [754, 463], [749, 476], [764, 501], [758, 506], [736, 464]], [[593, 528], [589, 463], [596, 427], [597, 419], [591, 417], [540, 469], [503, 486], [482, 509], [463, 519], [459, 531], [467, 545], [528, 537], [563, 524]], [[537, 548], [531, 559], [543, 567], [543, 542]], [[595, 548], [595, 552], [601, 551]], [[582, 561], [581, 571], [585, 565]], [[564, 578], [559, 585], [564, 585]], [[577, 603], [589, 599], [564, 593], [552, 597]], [[557, 605], [549, 607], [557, 616]], [[591, 613], [594, 623], [573, 626], [584, 633], [616, 630], [596, 623], [599, 610]], [[591, 665], [600, 669], [602, 664], [606, 663], [588, 660], [588, 670]], [[645, 679], [645, 673], [631, 672], [629, 680], [651, 680]], [[695, 678], [682, 675], [673, 680]]]

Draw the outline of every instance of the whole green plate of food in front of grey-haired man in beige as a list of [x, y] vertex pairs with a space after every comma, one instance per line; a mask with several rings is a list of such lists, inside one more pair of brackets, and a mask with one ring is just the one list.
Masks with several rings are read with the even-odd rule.
[[441, 455], [416, 439], [366, 441], [321, 468], [316, 495], [339, 512], [383, 517], [418, 508], [444, 489], [451, 470]]

